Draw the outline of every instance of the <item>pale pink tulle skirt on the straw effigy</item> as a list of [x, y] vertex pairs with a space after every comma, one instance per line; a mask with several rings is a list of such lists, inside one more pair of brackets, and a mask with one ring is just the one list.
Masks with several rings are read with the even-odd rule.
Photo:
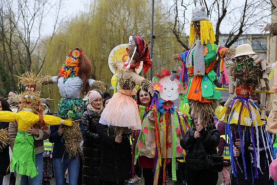
[[135, 95], [134, 91], [119, 89], [103, 110], [99, 123], [141, 130], [140, 113], [132, 95]]

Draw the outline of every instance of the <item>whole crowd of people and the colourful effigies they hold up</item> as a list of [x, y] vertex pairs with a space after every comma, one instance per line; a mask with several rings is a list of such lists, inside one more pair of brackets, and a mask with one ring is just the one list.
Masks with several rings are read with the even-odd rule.
[[[148, 45], [130, 36], [128, 60], [113, 63], [121, 75], [112, 96], [102, 92], [105, 83], [90, 79], [91, 62], [79, 47], [69, 52], [59, 76], [19, 77], [25, 91], [0, 99], [0, 183], [160, 185], [172, 179], [176, 185], [215, 185], [220, 173], [223, 185], [275, 183], [270, 164], [277, 142], [265, 116], [265, 94], [272, 92], [266, 85], [261, 96], [254, 91], [268, 83], [266, 61], [249, 44], [235, 51], [214, 44], [208, 20], [205, 7], [195, 8], [193, 46], [173, 55], [183, 63], [180, 70], [163, 69], [152, 82], [135, 72], [141, 61], [145, 73], [152, 65]], [[230, 83], [226, 58], [233, 61]], [[229, 85], [230, 98], [220, 104], [216, 78]], [[49, 83], [62, 96], [54, 115], [36, 91]]]

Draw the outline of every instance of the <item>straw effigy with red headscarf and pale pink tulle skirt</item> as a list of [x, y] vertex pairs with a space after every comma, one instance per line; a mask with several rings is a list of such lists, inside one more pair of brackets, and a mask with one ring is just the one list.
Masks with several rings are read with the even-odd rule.
[[116, 135], [129, 132], [129, 128], [141, 130], [140, 113], [131, 96], [135, 95], [135, 85], [142, 86], [145, 90], [152, 88], [151, 82], [135, 72], [135, 69], [140, 67], [141, 61], [145, 73], [152, 65], [146, 41], [141, 36], [130, 36], [126, 50], [128, 59], [125, 64], [120, 61], [112, 64], [115, 71], [121, 73], [121, 77], [117, 78], [118, 91], [103, 110], [99, 121], [101, 124], [111, 126]]

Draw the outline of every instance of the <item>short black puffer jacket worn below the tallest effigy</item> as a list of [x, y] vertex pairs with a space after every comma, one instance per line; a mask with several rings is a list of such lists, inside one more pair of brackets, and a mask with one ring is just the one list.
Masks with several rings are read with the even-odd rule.
[[205, 152], [207, 154], [216, 154], [216, 147], [220, 142], [220, 133], [215, 129], [215, 126], [205, 130], [203, 128], [200, 131], [201, 137], [195, 139], [194, 132], [196, 131], [195, 127], [190, 129], [184, 139], [181, 139], [181, 146], [184, 150], [187, 150], [186, 155], [186, 169], [190, 170], [204, 170], [206, 169], [205, 164], [205, 153], [202, 149], [200, 142], [203, 143], [205, 147]]

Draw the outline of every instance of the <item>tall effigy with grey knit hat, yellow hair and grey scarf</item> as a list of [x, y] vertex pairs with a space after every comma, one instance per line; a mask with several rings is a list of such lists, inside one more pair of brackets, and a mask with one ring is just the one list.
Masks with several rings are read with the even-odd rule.
[[[233, 51], [214, 44], [214, 31], [208, 20], [204, 6], [193, 10], [189, 35], [189, 43], [193, 46], [190, 50], [173, 55], [173, 61], [183, 62], [180, 82], [188, 85], [181, 105], [191, 102], [191, 113], [211, 123], [215, 116], [215, 101], [221, 98], [220, 91], [214, 89], [216, 86], [213, 81], [216, 73], [212, 69], [216, 63], [216, 57], [224, 59]], [[220, 80], [227, 85], [228, 77], [224, 71], [224, 61], [221, 61], [219, 73], [222, 77]]]

